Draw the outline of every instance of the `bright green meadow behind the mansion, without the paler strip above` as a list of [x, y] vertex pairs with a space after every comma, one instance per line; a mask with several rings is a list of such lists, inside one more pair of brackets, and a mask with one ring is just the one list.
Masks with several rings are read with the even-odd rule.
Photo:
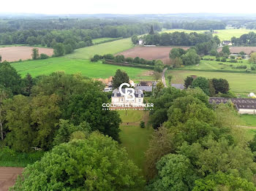
[[23, 61], [12, 63], [12, 66], [21, 74], [22, 77], [27, 73], [33, 77], [51, 74], [54, 71], [64, 71], [66, 74], [80, 73], [91, 78], [108, 78], [116, 73], [117, 69], [126, 71], [131, 79], [152, 79], [144, 76], [147, 69], [138, 69], [127, 66], [116, 66], [103, 64], [101, 62], [91, 63], [89, 60], [68, 59], [68, 58], [49, 58], [37, 61]]

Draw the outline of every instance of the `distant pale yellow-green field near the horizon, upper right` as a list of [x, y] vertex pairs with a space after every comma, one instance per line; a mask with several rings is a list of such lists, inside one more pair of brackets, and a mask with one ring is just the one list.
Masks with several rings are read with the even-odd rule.
[[[192, 30], [184, 30], [184, 29], [172, 29], [172, 30], [167, 30], [167, 31], [162, 31], [162, 32], [167, 32], [167, 33], [173, 33], [175, 31], [179, 32], [186, 32], [186, 33], [191, 33], [191, 32], [197, 32], [197, 33], [204, 33], [205, 31], [192, 31]], [[220, 40], [230, 40], [233, 36], [240, 37], [242, 34], [248, 34], [249, 32], [256, 32], [256, 30], [249, 30], [249, 29], [224, 29], [224, 30], [214, 30], [217, 31], [217, 35], [219, 36]]]

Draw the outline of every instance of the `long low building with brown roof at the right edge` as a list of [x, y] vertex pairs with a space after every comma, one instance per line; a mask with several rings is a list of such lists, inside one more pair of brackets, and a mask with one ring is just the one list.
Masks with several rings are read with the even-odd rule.
[[256, 99], [253, 98], [209, 98], [210, 104], [226, 104], [231, 101], [239, 114], [256, 114]]

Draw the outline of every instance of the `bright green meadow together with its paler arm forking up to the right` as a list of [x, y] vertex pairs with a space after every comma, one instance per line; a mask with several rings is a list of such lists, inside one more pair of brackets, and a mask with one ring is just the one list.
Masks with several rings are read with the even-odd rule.
[[151, 76], [148, 76], [148, 69], [115, 66], [89, 61], [89, 58], [95, 54], [114, 54], [129, 49], [130, 47], [132, 47], [130, 39], [121, 39], [97, 44], [91, 47], [80, 48], [75, 50], [72, 54], [58, 58], [16, 62], [12, 63], [12, 66], [15, 67], [22, 77], [25, 77], [27, 73], [31, 74], [33, 77], [37, 77], [43, 74], [51, 74], [54, 71], [64, 71], [66, 74], [80, 73], [83, 76], [91, 78], [108, 78], [113, 76], [117, 69], [121, 69], [127, 71], [127, 74], [131, 79], [152, 79]]

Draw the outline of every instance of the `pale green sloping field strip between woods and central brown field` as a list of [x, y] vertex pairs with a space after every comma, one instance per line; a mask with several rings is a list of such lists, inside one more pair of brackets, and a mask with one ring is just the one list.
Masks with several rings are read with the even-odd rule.
[[64, 55], [64, 58], [69, 59], [90, 59], [94, 55], [116, 54], [132, 48], [131, 39], [120, 39], [113, 42], [96, 44], [91, 47], [84, 47], [75, 50], [72, 54]]

